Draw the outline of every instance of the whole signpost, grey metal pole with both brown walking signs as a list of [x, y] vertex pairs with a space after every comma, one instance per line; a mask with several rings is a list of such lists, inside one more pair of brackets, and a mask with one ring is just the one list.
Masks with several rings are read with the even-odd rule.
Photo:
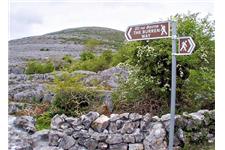
[[[175, 105], [176, 105], [176, 56], [191, 55], [195, 43], [190, 36], [177, 38], [176, 22], [166, 21], [150, 24], [129, 26], [125, 32], [128, 41], [140, 41], [148, 39], [168, 38], [170, 36], [170, 24], [172, 25], [172, 81], [171, 81], [171, 104], [170, 104], [170, 133], [169, 150], [173, 150]], [[177, 53], [177, 39], [179, 40], [179, 53]]]

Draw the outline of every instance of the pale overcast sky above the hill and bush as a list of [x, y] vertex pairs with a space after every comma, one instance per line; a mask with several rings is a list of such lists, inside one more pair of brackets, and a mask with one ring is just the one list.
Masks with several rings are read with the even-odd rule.
[[83, 26], [125, 31], [127, 26], [167, 20], [176, 13], [208, 13], [213, 0], [11, 0], [9, 39]]

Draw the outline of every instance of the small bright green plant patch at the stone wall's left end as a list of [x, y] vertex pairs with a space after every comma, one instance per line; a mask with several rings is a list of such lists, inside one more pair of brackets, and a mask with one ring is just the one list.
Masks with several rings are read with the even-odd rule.
[[45, 112], [39, 116], [36, 116], [36, 124], [35, 127], [36, 129], [39, 130], [43, 130], [43, 129], [49, 129], [50, 128], [50, 124], [51, 124], [51, 118], [52, 115], [50, 112]]

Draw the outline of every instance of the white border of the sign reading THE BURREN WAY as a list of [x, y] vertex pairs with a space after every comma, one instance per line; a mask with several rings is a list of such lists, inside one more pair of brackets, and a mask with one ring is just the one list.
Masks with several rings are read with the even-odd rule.
[[[153, 22], [153, 23], [144, 23], [144, 24], [131, 25], [131, 26], [128, 26], [127, 27], [124, 35], [125, 35], [127, 41], [143, 41], [143, 40], [152, 40], [152, 39], [171, 38], [171, 35], [170, 35], [170, 23], [171, 22], [172, 22], [171, 20], [168, 20], [168, 21], [159, 21], [159, 22]], [[127, 37], [127, 34], [126, 33], [129, 30], [129, 28], [136, 27], [136, 26], [154, 25], [154, 24], [160, 24], [160, 23], [168, 23], [168, 36], [163, 36], [163, 37], [149, 37], [149, 38], [133, 39], [133, 40], [130, 40]]]

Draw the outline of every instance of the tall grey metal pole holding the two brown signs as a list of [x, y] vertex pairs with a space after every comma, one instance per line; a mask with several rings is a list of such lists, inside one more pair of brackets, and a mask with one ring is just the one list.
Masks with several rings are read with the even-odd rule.
[[171, 104], [170, 104], [170, 133], [169, 133], [169, 150], [173, 150], [174, 140], [174, 124], [175, 124], [175, 103], [176, 103], [176, 40], [177, 27], [176, 22], [172, 21], [172, 89], [171, 89]]

